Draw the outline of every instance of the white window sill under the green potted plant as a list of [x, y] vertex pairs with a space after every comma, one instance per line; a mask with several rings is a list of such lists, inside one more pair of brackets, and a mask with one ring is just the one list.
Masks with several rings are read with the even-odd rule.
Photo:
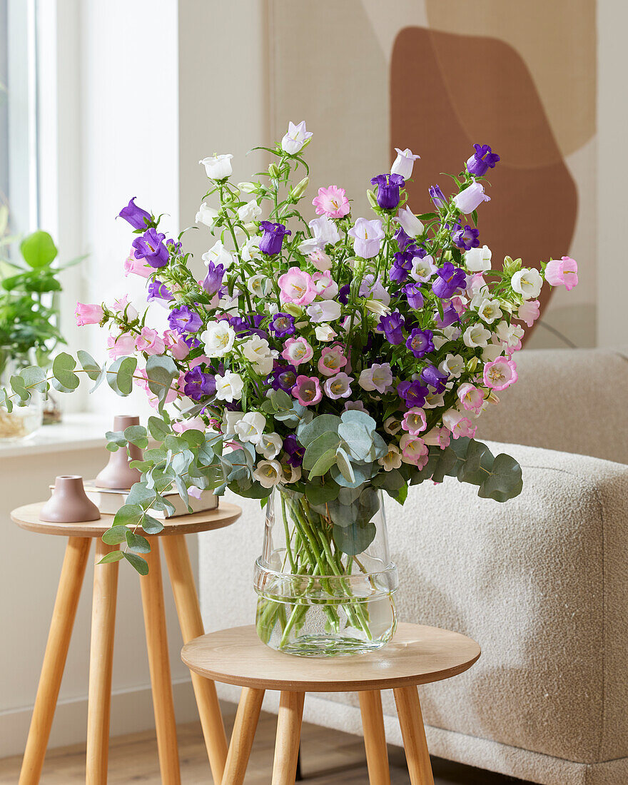
[[104, 434], [111, 430], [111, 417], [99, 414], [64, 414], [63, 422], [44, 425], [23, 442], [0, 444], [0, 460], [20, 455], [89, 450], [104, 447]]

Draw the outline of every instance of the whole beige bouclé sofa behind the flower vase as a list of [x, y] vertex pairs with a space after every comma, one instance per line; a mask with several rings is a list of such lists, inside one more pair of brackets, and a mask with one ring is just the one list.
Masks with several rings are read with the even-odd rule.
[[[518, 385], [483, 436], [520, 462], [500, 505], [447, 477], [388, 501], [400, 619], [480, 641], [468, 673], [421, 689], [430, 750], [543, 785], [628, 783], [628, 363], [612, 352], [522, 352]], [[564, 451], [553, 451], [546, 447]], [[575, 452], [590, 455], [575, 455]], [[603, 457], [620, 462], [610, 462]], [[257, 502], [202, 535], [208, 630], [250, 623]], [[237, 699], [238, 690], [221, 687]], [[273, 708], [269, 694], [265, 707]], [[401, 744], [392, 696], [386, 733]], [[305, 718], [361, 732], [356, 696], [308, 696]]]

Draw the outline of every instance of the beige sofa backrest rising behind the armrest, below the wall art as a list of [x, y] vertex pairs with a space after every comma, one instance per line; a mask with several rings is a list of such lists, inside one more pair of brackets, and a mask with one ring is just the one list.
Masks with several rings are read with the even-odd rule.
[[477, 438], [628, 464], [628, 359], [605, 349], [524, 349], [517, 384], [477, 421]]

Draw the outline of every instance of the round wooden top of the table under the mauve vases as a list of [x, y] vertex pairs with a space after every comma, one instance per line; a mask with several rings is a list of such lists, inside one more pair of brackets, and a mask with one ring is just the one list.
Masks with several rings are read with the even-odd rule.
[[[102, 537], [113, 524], [112, 515], [101, 515], [100, 520], [86, 520], [78, 524], [49, 523], [39, 520], [39, 510], [46, 502], [35, 502], [17, 507], [11, 513], [11, 520], [27, 531], [38, 531], [45, 535], [63, 535], [64, 537]], [[174, 518], [160, 519], [163, 530], [159, 535], [189, 535], [196, 531], [221, 529], [235, 523], [242, 509], [236, 504], [220, 502], [217, 509], [206, 509], [203, 513], [179, 515]]]

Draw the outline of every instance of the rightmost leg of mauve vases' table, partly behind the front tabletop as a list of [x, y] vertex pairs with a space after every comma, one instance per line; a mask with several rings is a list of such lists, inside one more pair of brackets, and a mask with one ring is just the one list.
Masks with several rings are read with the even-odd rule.
[[[168, 535], [162, 537], [163, 552], [166, 555], [170, 582], [177, 605], [177, 615], [181, 625], [183, 642], [188, 643], [195, 637], [203, 635], [203, 619], [196, 594], [192, 564], [188, 553], [185, 535]], [[192, 686], [199, 707], [203, 737], [210, 759], [210, 768], [214, 783], [221, 783], [227, 760], [227, 736], [222, 721], [221, 708], [218, 703], [216, 686], [210, 679], [192, 673]], [[262, 692], [263, 695], [263, 692]], [[257, 711], [259, 714], [259, 710]], [[257, 723], [257, 719], [256, 719]], [[235, 781], [235, 780], [234, 780]]]

